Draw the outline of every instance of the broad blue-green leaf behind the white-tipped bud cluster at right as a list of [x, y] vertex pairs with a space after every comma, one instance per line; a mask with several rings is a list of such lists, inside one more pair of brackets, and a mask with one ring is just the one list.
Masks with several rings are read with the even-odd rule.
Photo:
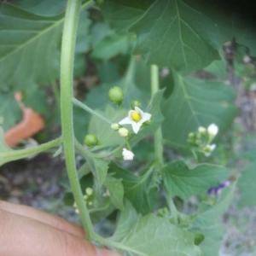
[[175, 87], [162, 112], [163, 136], [173, 146], [187, 148], [189, 132], [199, 126], [218, 125], [227, 129], [237, 114], [235, 94], [228, 84], [175, 75]]

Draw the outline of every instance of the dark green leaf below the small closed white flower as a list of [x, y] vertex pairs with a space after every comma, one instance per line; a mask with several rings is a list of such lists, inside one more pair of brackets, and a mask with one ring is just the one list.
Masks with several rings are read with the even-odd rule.
[[125, 189], [125, 198], [131, 201], [137, 212], [142, 214], [151, 212], [148, 200], [148, 187], [150, 184], [148, 175], [141, 177], [135, 176], [113, 162], [109, 165], [109, 172], [113, 173], [113, 177], [122, 178], [122, 183]]

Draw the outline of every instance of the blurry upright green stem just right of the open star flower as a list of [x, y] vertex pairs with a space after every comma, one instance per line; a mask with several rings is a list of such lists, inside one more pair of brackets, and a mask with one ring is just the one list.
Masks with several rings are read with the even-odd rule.
[[[151, 66], [151, 95], [160, 90], [159, 85], [159, 70], [156, 65]], [[155, 157], [159, 160], [160, 166], [164, 165], [164, 158], [163, 158], [163, 137], [162, 137], [162, 129], [161, 126], [154, 134], [154, 152]]]

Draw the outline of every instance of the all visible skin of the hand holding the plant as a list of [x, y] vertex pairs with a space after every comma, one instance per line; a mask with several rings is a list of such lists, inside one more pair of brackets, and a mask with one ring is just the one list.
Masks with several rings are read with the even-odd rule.
[[0, 201], [0, 255], [120, 256], [84, 237], [81, 227], [64, 218]]

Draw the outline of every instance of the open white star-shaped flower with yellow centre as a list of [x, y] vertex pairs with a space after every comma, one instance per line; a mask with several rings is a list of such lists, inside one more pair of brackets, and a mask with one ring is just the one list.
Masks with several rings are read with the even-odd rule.
[[119, 125], [131, 125], [134, 133], [137, 133], [144, 122], [151, 119], [151, 113], [144, 113], [140, 108], [130, 110], [125, 119], [119, 121]]

